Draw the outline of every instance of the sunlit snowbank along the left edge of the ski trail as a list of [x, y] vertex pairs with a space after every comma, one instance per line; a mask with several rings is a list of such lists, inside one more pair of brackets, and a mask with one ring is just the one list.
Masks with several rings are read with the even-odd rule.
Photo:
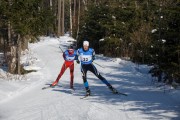
[[[49, 41], [49, 37], [41, 37], [40, 40], [40, 43], [44, 43], [44, 41]], [[55, 41], [57, 42], [57, 39]], [[41, 61], [31, 50], [38, 47], [40, 43], [30, 44], [29, 50], [25, 50], [21, 53], [22, 56], [20, 61], [25, 70], [36, 70], [37, 72], [32, 72], [27, 75], [12, 75], [0, 69], [0, 102], [7, 101], [14, 96], [20, 95], [24, 91], [36, 86], [38, 82], [41, 82], [43, 78], [42, 72], [39, 71], [42, 69], [42, 66], [39, 64]]]

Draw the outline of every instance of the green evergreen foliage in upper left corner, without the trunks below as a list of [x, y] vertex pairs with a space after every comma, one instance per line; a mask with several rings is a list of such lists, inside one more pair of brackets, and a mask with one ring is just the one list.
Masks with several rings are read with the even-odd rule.
[[54, 15], [50, 8], [41, 6], [42, 0], [2, 0], [0, 3], [3, 25], [10, 22], [14, 34], [38, 36], [52, 28]]

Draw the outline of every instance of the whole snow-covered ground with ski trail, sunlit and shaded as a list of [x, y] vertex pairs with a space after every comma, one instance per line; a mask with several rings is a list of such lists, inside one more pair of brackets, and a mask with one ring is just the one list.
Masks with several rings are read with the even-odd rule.
[[[92, 73], [88, 81], [92, 96], [85, 94], [80, 65], [75, 65], [75, 91], [69, 89], [69, 70], [55, 88], [42, 90], [57, 77], [64, 60], [62, 50], [68, 46], [67, 36], [42, 37], [30, 44], [21, 63], [25, 76], [7, 75], [0, 71], [0, 120], [179, 120], [180, 92], [170, 87], [155, 87], [146, 65], [97, 56], [100, 73], [128, 96], [113, 95]], [[60, 47], [59, 47], [60, 46]], [[61, 48], [61, 49], [60, 49]], [[21, 80], [18, 80], [21, 79]], [[164, 93], [165, 88], [165, 93]]]

